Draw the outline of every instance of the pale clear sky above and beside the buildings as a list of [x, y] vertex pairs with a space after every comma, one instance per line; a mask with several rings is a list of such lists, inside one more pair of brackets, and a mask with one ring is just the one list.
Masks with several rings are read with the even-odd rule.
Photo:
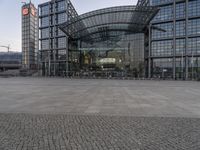
[[[37, 6], [49, 0], [32, 0]], [[21, 2], [29, 0], [0, 0], [0, 45], [9, 45], [11, 51], [21, 51]], [[137, 0], [71, 0], [78, 14], [120, 5], [135, 5]], [[6, 49], [0, 47], [0, 51]]]

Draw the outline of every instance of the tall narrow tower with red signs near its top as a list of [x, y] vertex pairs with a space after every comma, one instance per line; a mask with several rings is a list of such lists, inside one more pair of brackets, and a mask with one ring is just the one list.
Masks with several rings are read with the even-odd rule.
[[22, 6], [22, 65], [25, 69], [37, 68], [38, 15], [30, 2]]

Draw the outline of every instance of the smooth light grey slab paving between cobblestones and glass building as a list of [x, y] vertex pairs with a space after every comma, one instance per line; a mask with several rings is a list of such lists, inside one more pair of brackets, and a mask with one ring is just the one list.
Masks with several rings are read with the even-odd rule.
[[200, 82], [0, 78], [0, 112], [200, 117]]

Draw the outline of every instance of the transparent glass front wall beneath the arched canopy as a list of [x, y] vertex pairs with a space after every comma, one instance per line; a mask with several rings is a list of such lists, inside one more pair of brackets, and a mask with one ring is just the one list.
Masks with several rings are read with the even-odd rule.
[[79, 41], [70, 49], [70, 70], [76, 74], [103, 77], [144, 76], [144, 34], [120, 32], [117, 38], [107, 38], [93, 44]]

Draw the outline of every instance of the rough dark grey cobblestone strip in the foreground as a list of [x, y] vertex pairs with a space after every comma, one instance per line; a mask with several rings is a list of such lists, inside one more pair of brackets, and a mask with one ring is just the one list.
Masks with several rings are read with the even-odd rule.
[[199, 150], [200, 119], [0, 114], [0, 150]]

